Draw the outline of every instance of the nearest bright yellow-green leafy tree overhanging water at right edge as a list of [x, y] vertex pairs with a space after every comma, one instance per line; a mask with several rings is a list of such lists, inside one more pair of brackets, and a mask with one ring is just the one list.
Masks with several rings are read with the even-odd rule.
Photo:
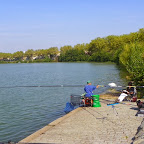
[[144, 82], [144, 45], [126, 44], [120, 54], [120, 64], [129, 72], [130, 77], [139, 83]]

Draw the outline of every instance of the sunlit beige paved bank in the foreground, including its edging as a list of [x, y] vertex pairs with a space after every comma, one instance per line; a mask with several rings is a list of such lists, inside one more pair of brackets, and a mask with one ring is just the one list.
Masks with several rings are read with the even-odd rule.
[[78, 108], [21, 142], [62, 144], [131, 144], [143, 117], [135, 103]]

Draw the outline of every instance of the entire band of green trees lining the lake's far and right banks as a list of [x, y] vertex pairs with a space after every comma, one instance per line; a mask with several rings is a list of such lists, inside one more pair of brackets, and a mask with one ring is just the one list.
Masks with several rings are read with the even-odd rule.
[[40, 50], [0, 53], [0, 63], [16, 62], [115, 62], [125, 69], [137, 85], [144, 85], [144, 29], [120, 36], [96, 38], [88, 44], [77, 44]]

